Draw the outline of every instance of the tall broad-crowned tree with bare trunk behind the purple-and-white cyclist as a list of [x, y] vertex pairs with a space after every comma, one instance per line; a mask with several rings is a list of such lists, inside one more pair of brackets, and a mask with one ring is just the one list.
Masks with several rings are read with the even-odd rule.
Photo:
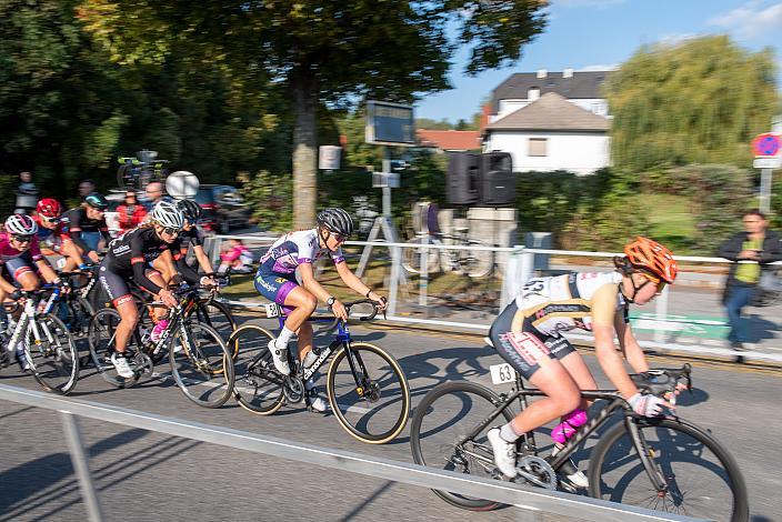
[[[515, 61], [542, 31], [542, 0], [192, 2], [83, 0], [80, 16], [118, 62], [160, 62], [174, 48], [232, 71], [263, 70], [284, 86], [293, 113], [295, 225], [317, 202], [317, 113], [357, 99], [412, 101], [449, 87], [455, 49], [471, 46], [469, 74]], [[451, 27], [458, 38], [449, 41]]]

